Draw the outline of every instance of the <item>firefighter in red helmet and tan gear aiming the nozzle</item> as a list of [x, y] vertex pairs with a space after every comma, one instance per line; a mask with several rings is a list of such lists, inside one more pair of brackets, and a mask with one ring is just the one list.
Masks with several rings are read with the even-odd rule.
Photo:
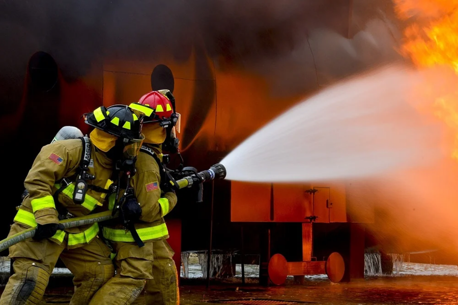
[[[121, 225], [104, 227], [103, 236], [116, 251], [114, 259], [118, 274], [110, 279], [94, 296], [100, 304], [130, 304], [145, 287], [147, 304], [178, 304], [178, 273], [172, 259], [174, 252], [168, 245], [168, 231], [163, 217], [174, 208], [177, 196], [171, 189], [162, 188], [160, 166], [161, 144], [170, 128], [173, 110], [168, 92], [150, 92], [130, 107], [145, 114], [142, 134], [145, 136], [136, 161], [136, 174], [131, 180], [135, 197], [141, 205], [141, 216], [135, 223], [139, 242], [132, 231]], [[174, 114], [175, 113], [175, 114]], [[161, 195], [162, 194], [162, 195]], [[138, 243], [144, 245], [139, 247]], [[126, 287], [135, 287], [135, 293]]]

